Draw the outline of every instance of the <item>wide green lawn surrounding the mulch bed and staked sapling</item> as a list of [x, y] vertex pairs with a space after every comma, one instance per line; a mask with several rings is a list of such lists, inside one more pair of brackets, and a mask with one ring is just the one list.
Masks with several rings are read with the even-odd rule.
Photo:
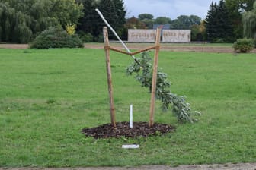
[[[150, 94], [111, 53], [117, 121], [148, 121]], [[256, 162], [255, 54], [160, 52], [171, 90], [202, 112], [178, 124], [157, 103], [164, 136], [94, 140], [81, 130], [110, 122], [102, 49], [0, 49], [0, 167], [82, 167]], [[138, 150], [122, 144], [137, 143]]]

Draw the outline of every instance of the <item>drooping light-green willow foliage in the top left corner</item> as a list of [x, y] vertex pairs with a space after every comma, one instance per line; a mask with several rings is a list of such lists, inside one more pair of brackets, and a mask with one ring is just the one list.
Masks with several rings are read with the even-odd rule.
[[48, 27], [78, 24], [82, 8], [75, 0], [2, 0], [0, 40], [27, 43]]

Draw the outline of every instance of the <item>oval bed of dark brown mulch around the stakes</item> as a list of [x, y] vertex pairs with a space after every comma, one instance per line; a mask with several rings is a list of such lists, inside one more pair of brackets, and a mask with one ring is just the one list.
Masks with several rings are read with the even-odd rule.
[[133, 122], [133, 128], [130, 128], [129, 122], [118, 122], [117, 128], [111, 124], [103, 124], [95, 128], [84, 128], [82, 133], [88, 137], [109, 138], [109, 137], [149, 137], [152, 135], [166, 134], [174, 131], [174, 126], [169, 124], [155, 123], [149, 128], [148, 122]]

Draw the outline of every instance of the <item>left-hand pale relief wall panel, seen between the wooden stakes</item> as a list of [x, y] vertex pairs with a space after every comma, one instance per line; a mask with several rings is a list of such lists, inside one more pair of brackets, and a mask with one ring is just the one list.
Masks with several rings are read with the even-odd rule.
[[128, 42], [155, 42], [156, 30], [128, 30]]

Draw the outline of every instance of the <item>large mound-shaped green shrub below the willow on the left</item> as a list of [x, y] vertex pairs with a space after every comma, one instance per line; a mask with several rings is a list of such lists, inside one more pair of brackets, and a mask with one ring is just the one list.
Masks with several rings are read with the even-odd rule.
[[69, 35], [61, 27], [49, 27], [30, 44], [31, 49], [83, 48], [84, 44], [77, 35]]

